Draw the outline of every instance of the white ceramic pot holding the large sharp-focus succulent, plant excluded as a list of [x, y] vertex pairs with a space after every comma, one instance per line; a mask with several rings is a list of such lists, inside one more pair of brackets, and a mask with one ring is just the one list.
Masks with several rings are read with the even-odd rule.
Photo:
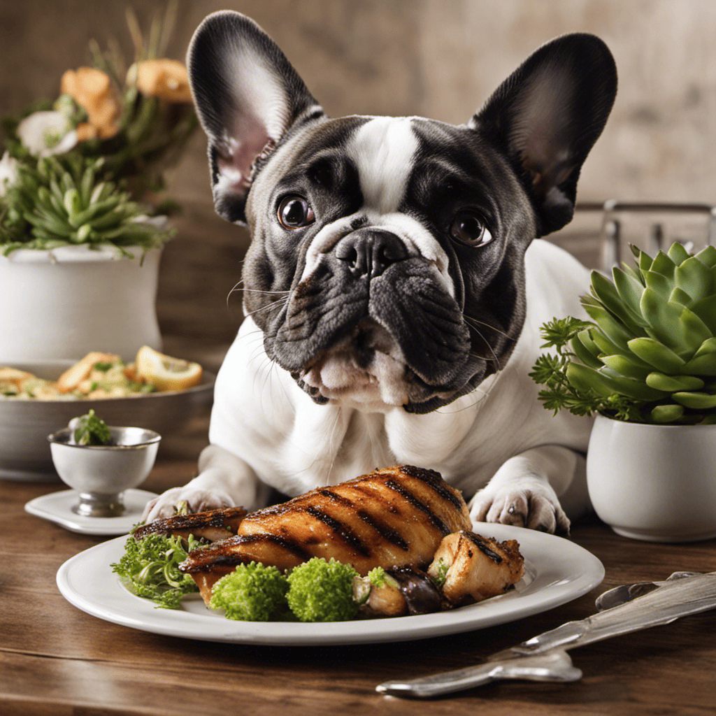
[[587, 485], [620, 535], [652, 542], [716, 537], [716, 425], [643, 425], [598, 416]]

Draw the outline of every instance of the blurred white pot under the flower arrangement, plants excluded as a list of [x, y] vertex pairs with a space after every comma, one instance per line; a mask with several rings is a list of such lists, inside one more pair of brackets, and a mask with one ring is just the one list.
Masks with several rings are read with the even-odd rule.
[[133, 359], [161, 350], [155, 301], [160, 249], [63, 246], [0, 256], [0, 364], [79, 359], [90, 351]]

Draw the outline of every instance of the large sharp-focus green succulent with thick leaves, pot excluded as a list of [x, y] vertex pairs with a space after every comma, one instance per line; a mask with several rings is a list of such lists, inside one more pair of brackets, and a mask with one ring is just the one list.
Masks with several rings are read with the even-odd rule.
[[591, 321], [542, 326], [531, 377], [544, 407], [619, 420], [716, 423], [716, 247], [695, 256], [674, 243], [634, 268], [594, 271], [581, 302]]

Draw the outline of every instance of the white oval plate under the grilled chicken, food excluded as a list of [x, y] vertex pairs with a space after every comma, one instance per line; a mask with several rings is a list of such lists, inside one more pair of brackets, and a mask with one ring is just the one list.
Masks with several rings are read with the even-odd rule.
[[185, 599], [178, 610], [157, 609], [153, 601], [127, 591], [112, 573], [110, 563], [120, 560], [126, 537], [68, 559], [57, 572], [57, 586], [70, 604], [87, 614], [144, 632], [233, 644], [309, 646], [400, 642], [493, 627], [565, 604], [604, 579], [599, 559], [561, 537], [488, 523], [475, 525], [475, 532], [500, 541], [516, 539], [526, 574], [508, 594], [437, 614], [296, 624], [231, 621], [207, 609], [201, 599]]

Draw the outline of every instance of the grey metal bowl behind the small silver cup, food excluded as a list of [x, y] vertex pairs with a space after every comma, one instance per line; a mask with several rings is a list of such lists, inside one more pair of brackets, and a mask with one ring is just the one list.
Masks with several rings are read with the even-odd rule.
[[[74, 361], [9, 362], [37, 377], [56, 380]], [[0, 479], [57, 481], [47, 435], [92, 408], [107, 425], [140, 425], [163, 437], [205, 415], [213, 400], [215, 375], [187, 390], [101, 400], [18, 400], [0, 398]]]

